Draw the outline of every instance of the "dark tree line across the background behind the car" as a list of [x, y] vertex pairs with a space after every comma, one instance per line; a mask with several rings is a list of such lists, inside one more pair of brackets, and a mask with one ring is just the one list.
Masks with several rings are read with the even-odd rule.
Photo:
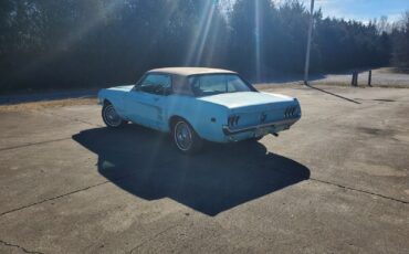
[[[302, 73], [308, 11], [297, 0], [2, 0], [0, 91], [133, 83], [162, 66], [213, 66], [252, 81]], [[312, 72], [408, 66], [409, 19], [314, 13]]]

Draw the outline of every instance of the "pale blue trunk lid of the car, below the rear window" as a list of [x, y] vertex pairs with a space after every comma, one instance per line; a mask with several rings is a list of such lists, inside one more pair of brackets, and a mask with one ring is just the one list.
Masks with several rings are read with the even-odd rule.
[[262, 105], [282, 105], [291, 104], [296, 102], [296, 99], [281, 95], [281, 94], [270, 94], [262, 92], [239, 92], [239, 93], [227, 93], [218, 94], [211, 96], [204, 96], [198, 98], [203, 102], [214, 103], [222, 105], [228, 108], [243, 108], [252, 106], [262, 106]]

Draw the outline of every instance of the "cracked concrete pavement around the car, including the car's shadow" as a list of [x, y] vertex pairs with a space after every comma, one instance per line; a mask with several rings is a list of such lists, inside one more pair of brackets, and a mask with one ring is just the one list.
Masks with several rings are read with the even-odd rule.
[[195, 157], [95, 99], [1, 106], [0, 253], [409, 253], [409, 89], [318, 88]]

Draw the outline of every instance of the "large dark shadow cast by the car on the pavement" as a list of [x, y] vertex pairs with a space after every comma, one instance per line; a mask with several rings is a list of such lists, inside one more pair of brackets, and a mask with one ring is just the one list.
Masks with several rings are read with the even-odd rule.
[[310, 178], [305, 166], [260, 142], [207, 144], [185, 156], [169, 136], [136, 125], [87, 129], [73, 139], [98, 156], [99, 173], [123, 190], [145, 200], [168, 197], [211, 216]]

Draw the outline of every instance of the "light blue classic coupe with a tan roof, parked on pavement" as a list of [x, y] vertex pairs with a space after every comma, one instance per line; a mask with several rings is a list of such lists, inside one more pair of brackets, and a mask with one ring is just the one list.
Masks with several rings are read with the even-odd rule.
[[277, 136], [301, 117], [296, 98], [258, 92], [235, 72], [168, 67], [147, 72], [136, 85], [102, 89], [102, 117], [112, 128], [128, 121], [170, 133], [192, 154], [202, 140], [231, 142]]

